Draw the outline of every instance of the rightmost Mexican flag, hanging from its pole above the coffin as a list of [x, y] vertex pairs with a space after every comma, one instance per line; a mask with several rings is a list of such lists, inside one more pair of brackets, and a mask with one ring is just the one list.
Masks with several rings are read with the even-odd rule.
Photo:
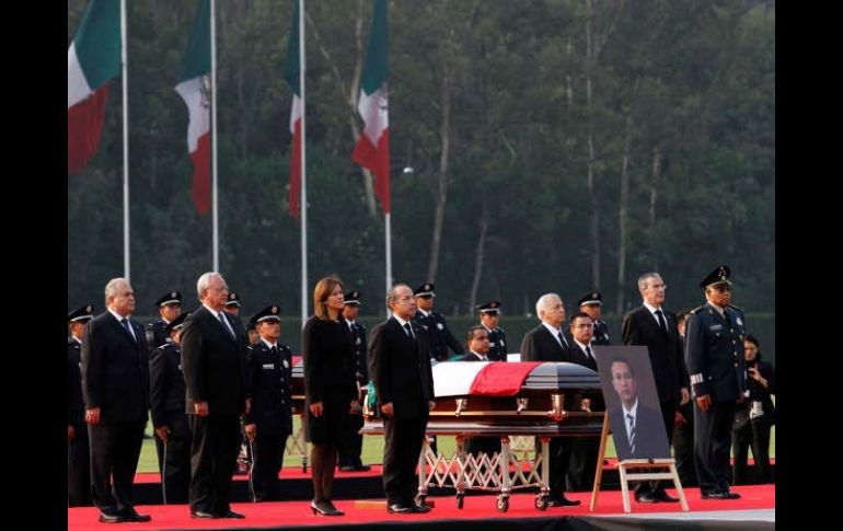
[[357, 104], [366, 127], [351, 160], [374, 173], [374, 195], [390, 211], [390, 120], [386, 91], [386, 0], [374, 0], [372, 31]]

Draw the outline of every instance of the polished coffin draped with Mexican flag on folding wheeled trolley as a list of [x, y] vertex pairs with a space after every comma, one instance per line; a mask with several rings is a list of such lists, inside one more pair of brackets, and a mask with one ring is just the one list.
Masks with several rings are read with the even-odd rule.
[[[431, 435], [599, 437], [605, 407], [597, 372], [566, 362], [449, 361], [432, 368]], [[362, 434], [383, 432], [367, 409]]]

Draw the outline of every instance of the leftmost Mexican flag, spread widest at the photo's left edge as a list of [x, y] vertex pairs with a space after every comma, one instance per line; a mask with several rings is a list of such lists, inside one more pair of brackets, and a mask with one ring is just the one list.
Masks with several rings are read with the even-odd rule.
[[120, 3], [91, 0], [67, 56], [67, 173], [100, 147], [108, 81], [120, 72]]

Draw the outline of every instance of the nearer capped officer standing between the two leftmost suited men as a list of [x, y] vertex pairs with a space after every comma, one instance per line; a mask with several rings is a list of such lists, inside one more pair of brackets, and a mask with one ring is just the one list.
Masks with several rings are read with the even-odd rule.
[[190, 426], [185, 413], [186, 385], [182, 373], [182, 313], [164, 328], [169, 342], [149, 356], [149, 409], [155, 429], [164, 504], [186, 504], [190, 484]]

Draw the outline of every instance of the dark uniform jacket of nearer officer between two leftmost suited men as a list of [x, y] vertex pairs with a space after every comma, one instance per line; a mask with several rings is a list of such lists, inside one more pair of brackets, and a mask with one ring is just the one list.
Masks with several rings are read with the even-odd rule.
[[182, 373], [182, 350], [171, 344], [161, 345], [149, 355], [149, 409], [152, 426], [184, 426], [186, 385]]

